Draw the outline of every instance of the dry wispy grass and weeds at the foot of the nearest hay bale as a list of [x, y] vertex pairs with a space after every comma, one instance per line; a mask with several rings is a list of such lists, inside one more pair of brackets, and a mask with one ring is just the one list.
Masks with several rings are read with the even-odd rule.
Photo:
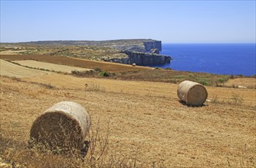
[[79, 153], [63, 155], [48, 149], [38, 150], [38, 146], [29, 148], [23, 140], [0, 134], [0, 167], [142, 167], [137, 152], [128, 156], [112, 149], [107, 157], [109, 139], [110, 124], [102, 125], [97, 121], [88, 132], [88, 153], [81, 157]]

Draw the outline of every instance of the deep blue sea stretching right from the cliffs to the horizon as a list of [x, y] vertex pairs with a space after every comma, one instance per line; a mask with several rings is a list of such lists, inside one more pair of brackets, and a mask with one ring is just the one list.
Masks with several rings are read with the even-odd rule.
[[253, 76], [256, 44], [162, 44], [171, 63], [154, 66], [190, 72]]

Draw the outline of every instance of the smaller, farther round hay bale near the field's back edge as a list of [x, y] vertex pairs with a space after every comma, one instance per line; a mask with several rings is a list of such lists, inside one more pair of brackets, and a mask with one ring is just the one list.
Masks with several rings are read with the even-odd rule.
[[205, 86], [189, 80], [179, 83], [177, 94], [187, 105], [195, 106], [203, 105], [208, 96]]

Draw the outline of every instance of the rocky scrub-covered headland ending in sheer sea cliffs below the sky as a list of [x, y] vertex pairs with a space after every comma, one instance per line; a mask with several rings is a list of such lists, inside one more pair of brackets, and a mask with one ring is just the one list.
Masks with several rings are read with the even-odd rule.
[[[153, 53], [149, 53], [153, 50]], [[1, 44], [1, 55], [51, 55], [77, 57], [87, 60], [103, 60], [113, 63], [140, 66], [170, 63], [169, 56], [159, 54], [159, 40], [104, 40], [104, 41], [36, 41], [27, 43]]]

